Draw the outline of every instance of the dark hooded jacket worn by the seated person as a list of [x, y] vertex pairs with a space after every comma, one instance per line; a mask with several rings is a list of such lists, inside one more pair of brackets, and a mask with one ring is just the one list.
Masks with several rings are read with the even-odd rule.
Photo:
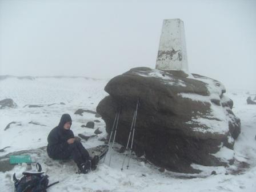
[[69, 143], [67, 140], [70, 138], [74, 138], [73, 131], [64, 129], [64, 125], [66, 122], [72, 122], [72, 119], [69, 114], [63, 114], [61, 117], [61, 121], [59, 121], [59, 125], [52, 129], [47, 137], [48, 145], [47, 145], [47, 154], [51, 158], [59, 158], [62, 157], [69, 147]]

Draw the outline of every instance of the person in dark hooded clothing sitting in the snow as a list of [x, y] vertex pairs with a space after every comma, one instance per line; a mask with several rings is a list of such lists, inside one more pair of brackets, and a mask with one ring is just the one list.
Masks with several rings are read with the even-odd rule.
[[72, 158], [79, 168], [79, 173], [88, 173], [96, 169], [98, 156], [91, 159], [82, 143], [75, 139], [70, 130], [72, 119], [69, 114], [63, 114], [59, 125], [50, 131], [47, 141], [47, 154], [53, 159]]

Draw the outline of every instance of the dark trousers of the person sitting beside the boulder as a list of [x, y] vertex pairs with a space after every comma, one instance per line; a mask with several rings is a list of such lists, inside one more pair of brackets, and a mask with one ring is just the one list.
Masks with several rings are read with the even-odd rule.
[[90, 160], [91, 157], [88, 151], [83, 147], [82, 143], [75, 141], [72, 144], [69, 144], [67, 147], [59, 149], [54, 153], [53, 159], [73, 159], [77, 166], [80, 166], [81, 163], [84, 163], [87, 160]]

